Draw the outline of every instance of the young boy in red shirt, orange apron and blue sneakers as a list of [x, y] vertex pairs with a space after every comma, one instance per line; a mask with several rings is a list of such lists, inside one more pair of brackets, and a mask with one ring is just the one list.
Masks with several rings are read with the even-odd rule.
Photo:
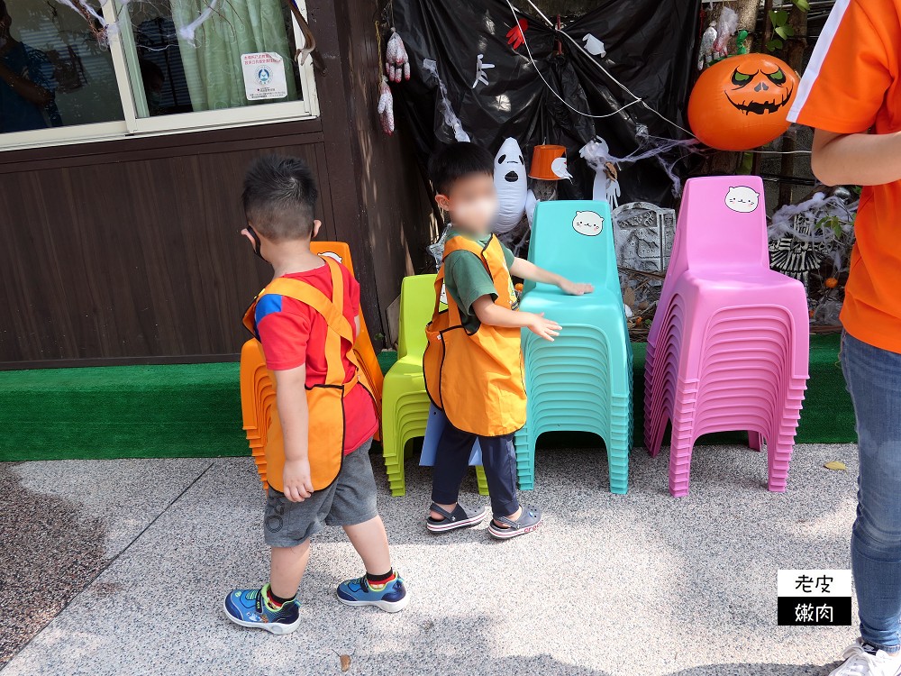
[[267, 454], [269, 581], [262, 589], [233, 590], [225, 613], [238, 625], [273, 634], [300, 625], [297, 589], [310, 538], [325, 525], [344, 529], [366, 568], [362, 577], [341, 582], [342, 603], [396, 612], [408, 601], [376, 508], [369, 464], [375, 406], [352, 359], [359, 284], [341, 263], [310, 251], [321, 225], [313, 218], [316, 196], [302, 160], [262, 158], [244, 180], [247, 228], [241, 232], [274, 269], [248, 320], [274, 374], [284, 453], [277, 462]]

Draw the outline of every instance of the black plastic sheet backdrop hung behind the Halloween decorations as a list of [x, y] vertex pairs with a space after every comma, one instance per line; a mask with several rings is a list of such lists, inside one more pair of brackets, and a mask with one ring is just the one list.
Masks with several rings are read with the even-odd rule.
[[[506, 33], [515, 22], [504, 0], [394, 0], [386, 18], [392, 14], [412, 69], [409, 81], [391, 84], [396, 112], [408, 123], [400, 132], [413, 133], [423, 163], [441, 143], [454, 141], [444, 124], [439, 88], [423, 71], [423, 59], [437, 62], [451, 106], [470, 140], [492, 154], [508, 136], [520, 143], [527, 165], [536, 144], [566, 146], [574, 181], [560, 181], [560, 198], [591, 197], [594, 172], [578, 151], [596, 133], [616, 157], [638, 147], [640, 124], [653, 136], [686, 135], [641, 104], [600, 119], [571, 111], [542, 82], [525, 45], [514, 50], [508, 44]], [[542, 19], [524, 12], [519, 18], [528, 21], [525, 38], [542, 75], [569, 105], [590, 114], [609, 114], [633, 100], [566, 37], [561, 36], [563, 53], [555, 55], [555, 32]], [[600, 0], [596, 10], [563, 30], [577, 41], [587, 33], [604, 41], [606, 56], [595, 59], [652, 108], [687, 127], [684, 109], [695, 72], [697, 21], [697, 3], [687, 0]], [[473, 89], [478, 54], [495, 67], [486, 71], [489, 84]], [[683, 164], [676, 167], [677, 173], [684, 169]], [[674, 202], [671, 181], [657, 160], [623, 167], [620, 180], [621, 204]]]

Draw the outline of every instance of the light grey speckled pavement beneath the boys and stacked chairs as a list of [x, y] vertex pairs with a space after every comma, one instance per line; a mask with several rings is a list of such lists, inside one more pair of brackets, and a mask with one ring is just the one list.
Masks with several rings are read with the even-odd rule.
[[[824, 469], [833, 460], [848, 471]], [[629, 495], [614, 496], [603, 452], [539, 452], [537, 488], [523, 498], [544, 508], [547, 523], [506, 543], [484, 526], [428, 534], [428, 470], [408, 461], [407, 495], [391, 498], [374, 465], [410, 606], [398, 615], [341, 606], [334, 587], [361, 568], [341, 531], [329, 529], [301, 589], [305, 624], [285, 637], [223, 617], [229, 589], [267, 574], [250, 459], [0, 465], [19, 491], [14, 500], [68, 515], [48, 532], [93, 534], [100, 561], [74, 576], [74, 598], [3, 676], [329, 674], [341, 672], [341, 654], [356, 674], [822, 676], [856, 635], [776, 625], [778, 569], [849, 567], [852, 445], [798, 446], [785, 495], [765, 489], [764, 454], [698, 447], [691, 494], [681, 499], [669, 497], [662, 455], [633, 452]], [[474, 475], [465, 489], [464, 501], [487, 503]], [[53, 559], [50, 538], [38, 542]], [[20, 566], [20, 586], [37, 588], [32, 598], [58, 592], [47, 578], [29, 582], [15, 557], [0, 551], [0, 570]], [[76, 593], [79, 582], [86, 588]], [[11, 601], [19, 604], [3, 607]], [[35, 613], [32, 628], [46, 619]]]

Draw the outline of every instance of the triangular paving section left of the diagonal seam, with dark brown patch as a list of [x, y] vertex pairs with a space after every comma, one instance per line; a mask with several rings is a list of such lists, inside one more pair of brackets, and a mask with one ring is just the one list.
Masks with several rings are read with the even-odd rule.
[[0, 665], [211, 464], [0, 463]]

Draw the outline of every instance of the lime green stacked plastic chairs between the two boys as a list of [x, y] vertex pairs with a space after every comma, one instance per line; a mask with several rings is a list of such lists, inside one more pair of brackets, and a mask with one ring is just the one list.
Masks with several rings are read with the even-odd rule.
[[[435, 306], [435, 275], [405, 277], [400, 290], [397, 361], [382, 386], [382, 454], [391, 495], [406, 492], [406, 443], [425, 435], [431, 401], [423, 378], [425, 324]], [[478, 492], [487, 495], [485, 472], [477, 468]]]

